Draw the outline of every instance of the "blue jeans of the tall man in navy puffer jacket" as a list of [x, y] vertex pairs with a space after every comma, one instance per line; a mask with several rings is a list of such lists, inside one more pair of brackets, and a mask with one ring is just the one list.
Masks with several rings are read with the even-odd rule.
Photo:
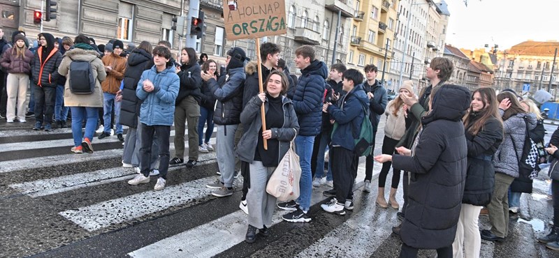
[[[310, 171], [310, 159], [312, 158], [313, 146], [314, 135], [297, 135], [295, 138], [295, 152], [299, 155], [299, 164], [301, 165], [301, 179], [299, 181], [300, 195], [297, 199], [297, 203], [303, 211], [309, 211], [310, 209], [310, 198], [312, 195], [312, 172]], [[324, 164], [322, 167], [324, 167]]]

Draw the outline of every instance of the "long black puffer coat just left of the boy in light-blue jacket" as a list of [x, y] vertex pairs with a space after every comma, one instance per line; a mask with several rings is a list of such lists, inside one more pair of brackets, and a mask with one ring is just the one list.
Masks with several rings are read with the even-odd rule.
[[138, 81], [145, 70], [153, 66], [152, 54], [135, 48], [128, 56], [126, 72], [124, 72], [124, 89], [122, 89], [122, 104], [120, 106], [120, 123], [131, 128], [138, 128], [138, 115], [142, 101], [136, 97]]

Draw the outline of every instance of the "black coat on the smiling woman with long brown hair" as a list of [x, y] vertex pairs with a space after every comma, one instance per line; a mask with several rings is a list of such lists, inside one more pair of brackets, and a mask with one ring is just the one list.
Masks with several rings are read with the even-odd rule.
[[[474, 114], [470, 114], [474, 116]], [[470, 126], [477, 120], [474, 118]], [[496, 118], [486, 121], [477, 135], [472, 135], [466, 128], [467, 175], [464, 186], [463, 204], [485, 206], [491, 201], [495, 187], [495, 169], [491, 163], [493, 153], [502, 142], [502, 122]]]

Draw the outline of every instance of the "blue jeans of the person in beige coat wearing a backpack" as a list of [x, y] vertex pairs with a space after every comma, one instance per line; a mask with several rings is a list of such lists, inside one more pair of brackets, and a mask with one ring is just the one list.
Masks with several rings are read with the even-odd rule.
[[[99, 119], [99, 107], [71, 107], [72, 109], [72, 136], [74, 146], [82, 144], [83, 137], [93, 142], [93, 135]], [[82, 135], [82, 121], [85, 121], [85, 135]]]

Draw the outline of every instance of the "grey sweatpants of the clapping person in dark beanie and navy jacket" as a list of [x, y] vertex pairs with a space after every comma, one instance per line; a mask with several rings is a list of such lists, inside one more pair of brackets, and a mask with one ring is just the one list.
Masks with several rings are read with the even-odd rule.
[[235, 132], [239, 125], [217, 125], [216, 157], [222, 181], [228, 188], [233, 187], [235, 176]]

